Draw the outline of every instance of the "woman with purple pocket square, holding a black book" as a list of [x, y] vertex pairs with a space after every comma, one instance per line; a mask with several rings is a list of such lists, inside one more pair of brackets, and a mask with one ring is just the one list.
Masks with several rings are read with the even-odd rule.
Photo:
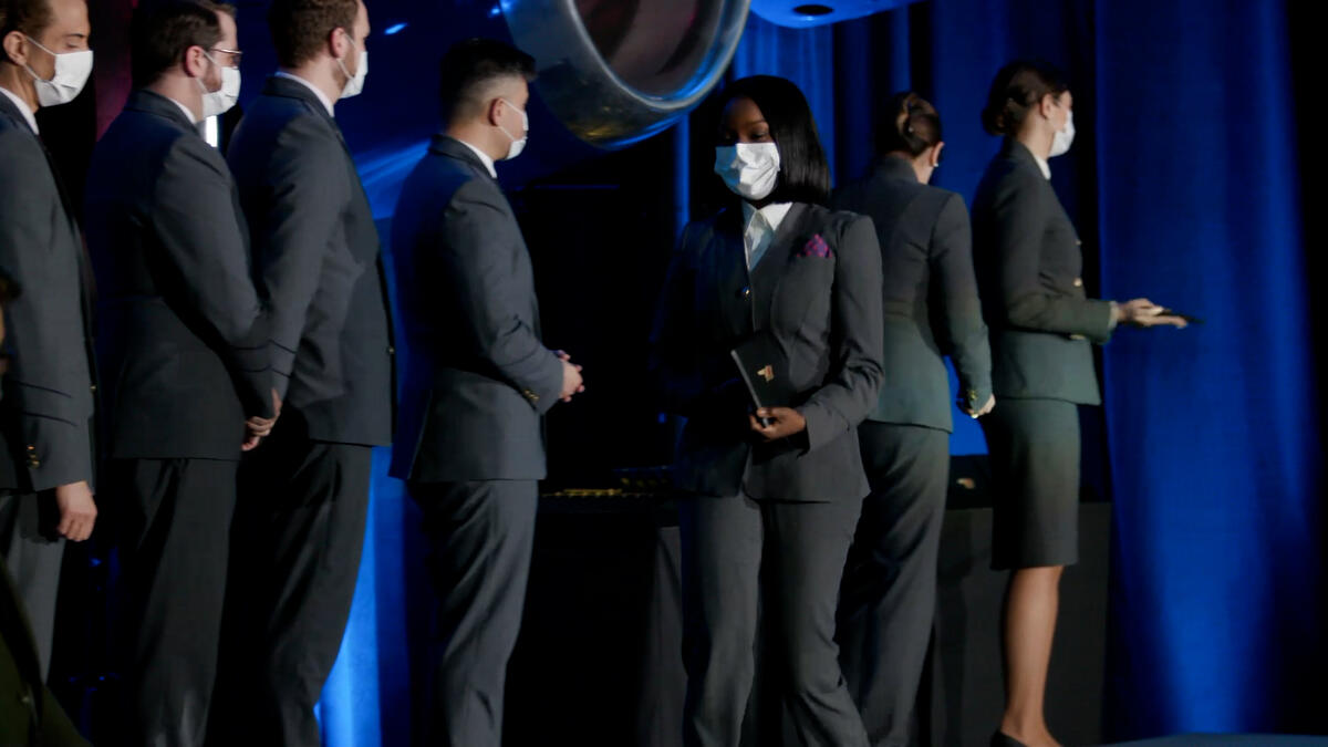
[[[765, 667], [782, 670], [799, 742], [865, 746], [834, 633], [869, 490], [855, 428], [882, 383], [880, 253], [870, 219], [822, 206], [829, 169], [797, 86], [744, 78], [720, 106], [714, 167], [734, 201], [684, 230], [652, 335], [664, 405], [687, 417], [684, 742], [738, 744], [764, 581]], [[749, 375], [769, 363], [788, 401], [753, 413], [734, 348], [777, 351]]]

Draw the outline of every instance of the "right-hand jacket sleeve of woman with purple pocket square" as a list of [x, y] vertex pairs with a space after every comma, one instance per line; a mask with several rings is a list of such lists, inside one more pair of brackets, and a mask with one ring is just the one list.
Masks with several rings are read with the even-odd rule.
[[834, 249], [830, 377], [798, 408], [810, 451], [857, 428], [876, 405], [884, 380], [880, 247], [871, 218], [854, 218]]

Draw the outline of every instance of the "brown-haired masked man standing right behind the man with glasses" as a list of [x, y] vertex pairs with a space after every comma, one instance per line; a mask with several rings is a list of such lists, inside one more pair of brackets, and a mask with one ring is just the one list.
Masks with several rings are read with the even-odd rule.
[[219, 700], [244, 707], [214, 727], [316, 747], [313, 706], [360, 569], [372, 447], [392, 441], [393, 350], [373, 213], [332, 118], [368, 69], [368, 11], [276, 0], [267, 20], [282, 68], [227, 160], [271, 308], [283, 411], [240, 467], [227, 638], [235, 621], [247, 643], [226, 658], [254, 661], [222, 681]]

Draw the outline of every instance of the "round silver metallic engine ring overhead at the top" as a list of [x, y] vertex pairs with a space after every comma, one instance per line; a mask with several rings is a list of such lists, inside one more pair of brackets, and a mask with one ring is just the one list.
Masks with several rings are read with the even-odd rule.
[[505, 0], [535, 88], [580, 140], [622, 148], [659, 133], [714, 88], [750, 0]]

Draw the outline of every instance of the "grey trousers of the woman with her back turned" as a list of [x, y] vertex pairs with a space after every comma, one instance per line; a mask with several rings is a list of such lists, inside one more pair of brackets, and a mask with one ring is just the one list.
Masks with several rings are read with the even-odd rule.
[[950, 437], [915, 425], [858, 429], [871, 494], [839, 598], [839, 662], [875, 747], [903, 747], [936, 606]]

